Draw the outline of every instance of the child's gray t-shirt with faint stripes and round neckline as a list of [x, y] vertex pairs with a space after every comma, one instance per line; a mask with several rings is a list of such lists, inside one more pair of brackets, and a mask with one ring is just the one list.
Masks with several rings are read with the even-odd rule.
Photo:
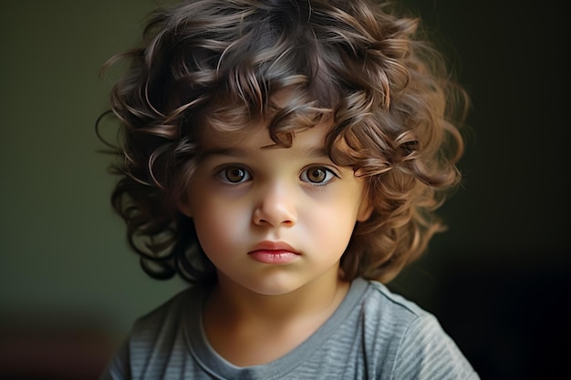
[[265, 365], [224, 360], [202, 329], [207, 292], [190, 288], [141, 317], [106, 379], [479, 379], [436, 318], [380, 282], [351, 283], [337, 311]]

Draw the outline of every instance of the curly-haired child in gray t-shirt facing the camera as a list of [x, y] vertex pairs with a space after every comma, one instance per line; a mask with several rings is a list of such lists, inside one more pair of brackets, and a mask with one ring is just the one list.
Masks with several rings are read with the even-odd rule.
[[111, 94], [112, 203], [143, 269], [192, 286], [134, 324], [102, 379], [478, 379], [383, 285], [442, 229], [465, 104], [393, 12], [188, 0], [109, 62], [131, 64]]

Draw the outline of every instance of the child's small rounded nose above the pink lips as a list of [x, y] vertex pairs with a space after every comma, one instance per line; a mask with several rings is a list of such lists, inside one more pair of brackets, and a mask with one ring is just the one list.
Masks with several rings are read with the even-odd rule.
[[296, 220], [294, 191], [289, 191], [278, 183], [260, 190], [258, 203], [254, 209], [254, 224], [291, 227], [296, 224]]

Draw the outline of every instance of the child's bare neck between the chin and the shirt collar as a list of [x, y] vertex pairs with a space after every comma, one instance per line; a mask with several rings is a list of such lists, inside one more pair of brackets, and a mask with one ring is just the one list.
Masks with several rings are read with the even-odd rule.
[[202, 315], [214, 350], [234, 365], [262, 365], [293, 350], [327, 321], [348, 292], [328, 273], [288, 293], [256, 293], [219, 273]]

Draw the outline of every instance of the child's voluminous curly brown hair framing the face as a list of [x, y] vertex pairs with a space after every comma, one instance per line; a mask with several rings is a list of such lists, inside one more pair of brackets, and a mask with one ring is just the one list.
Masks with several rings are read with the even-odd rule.
[[[444, 230], [435, 211], [461, 180], [469, 100], [422, 38], [419, 19], [397, 6], [187, 0], [155, 10], [142, 46], [102, 71], [125, 59], [130, 67], [110, 96], [121, 131], [111, 200], [151, 276], [216, 281], [192, 220], [176, 205], [205, 128], [253, 120], [267, 120], [285, 148], [296, 130], [330, 120], [330, 159], [366, 180], [373, 211], [341, 258], [345, 280], [389, 282]], [[279, 107], [278, 92], [287, 94]]]

